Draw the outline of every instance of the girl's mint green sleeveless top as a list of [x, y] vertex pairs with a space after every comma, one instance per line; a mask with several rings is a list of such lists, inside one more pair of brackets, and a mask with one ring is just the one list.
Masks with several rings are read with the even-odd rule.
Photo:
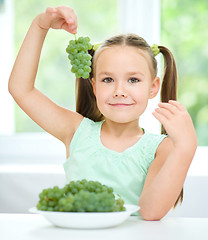
[[64, 163], [66, 182], [99, 181], [112, 187], [125, 204], [138, 205], [148, 168], [166, 135], [144, 133], [136, 144], [124, 152], [116, 152], [100, 140], [103, 122], [84, 118], [80, 123], [70, 144], [70, 156]]

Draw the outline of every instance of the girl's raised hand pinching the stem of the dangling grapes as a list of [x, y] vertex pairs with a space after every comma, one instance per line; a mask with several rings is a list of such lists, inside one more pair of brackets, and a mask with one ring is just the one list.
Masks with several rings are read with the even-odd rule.
[[37, 16], [36, 21], [39, 27], [45, 30], [53, 28], [64, 29], [72, 34], [77, 32], [77, 16], [69, 7], [49, 7]]

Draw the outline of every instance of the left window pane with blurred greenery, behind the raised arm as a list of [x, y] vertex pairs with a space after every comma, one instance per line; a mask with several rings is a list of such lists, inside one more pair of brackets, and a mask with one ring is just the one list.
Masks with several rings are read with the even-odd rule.
[[[49, 5], [50, 4], [50, 5]], [[78, 16], [79, 36], [89, 36], [91, 42], [101, 42], [118, 33], [117, 0], [15, 0], [15, 56], [19, 51], [33, 18], [49, 6], [69, 5]], [[66, 47], [72, 34], [50, 30], [41, 54], [36, 87], [55, 103], [75, 110], [75, 76], [70, 72]], [[15, 107], [16, 132], [43, 131], [18, 107]]]

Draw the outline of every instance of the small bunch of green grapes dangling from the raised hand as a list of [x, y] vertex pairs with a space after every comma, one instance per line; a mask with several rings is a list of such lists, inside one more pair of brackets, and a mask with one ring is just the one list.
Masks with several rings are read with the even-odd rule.
[[92, 56], [88, 50], [92, 49], [89, 37], [79, 37], [77, 40], [70, 40], [66, 48], [68, 58], [71, 61], [71, 72], [75, 73], [77, 78], [89, 78], [91, 72]]

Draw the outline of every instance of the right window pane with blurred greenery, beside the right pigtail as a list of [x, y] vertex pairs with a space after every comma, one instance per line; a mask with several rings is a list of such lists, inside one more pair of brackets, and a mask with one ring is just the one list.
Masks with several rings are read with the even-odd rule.
[[178, 67], [178, 100], [193, 119], [199, 145], [208, 145], [208, 1], [163, 0], [161, 43]]

